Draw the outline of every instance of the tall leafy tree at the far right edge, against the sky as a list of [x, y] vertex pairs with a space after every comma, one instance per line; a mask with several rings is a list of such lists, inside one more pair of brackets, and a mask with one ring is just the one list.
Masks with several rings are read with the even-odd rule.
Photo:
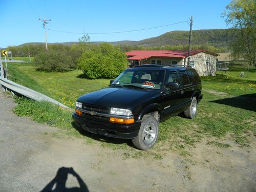
[[231, 42], [232, 57], [243, 57], [255, 65], [256, 6], [254, 0], [232, 0], [222, 13], [227, 26], [237, 33], [237, 40]]

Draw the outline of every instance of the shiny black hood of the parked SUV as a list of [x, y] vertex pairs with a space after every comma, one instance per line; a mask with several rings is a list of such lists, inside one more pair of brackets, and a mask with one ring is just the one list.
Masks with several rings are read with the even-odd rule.
[[106, 88], [85, 94], [77, 99], [79, 102], [93, 105], [103, 105], [112, 108], [129, 109], [132, 105], [152, 98], [158, 91], [127, 89], [127, 88]]

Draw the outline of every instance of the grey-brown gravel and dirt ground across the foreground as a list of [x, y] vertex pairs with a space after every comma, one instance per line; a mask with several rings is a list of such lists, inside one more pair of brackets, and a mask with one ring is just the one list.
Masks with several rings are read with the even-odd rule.
[[202, 140], [189, 149], [191, 157], [166, 152], [161, 160], [124, 159], [122, 150], [86, 144], [55, 127], [18, 117], [14, 106], [0, 91], [0, 191], [256, 190], [253, 134], [250, 147], [239, 147], [227, 137], [230, 148]]

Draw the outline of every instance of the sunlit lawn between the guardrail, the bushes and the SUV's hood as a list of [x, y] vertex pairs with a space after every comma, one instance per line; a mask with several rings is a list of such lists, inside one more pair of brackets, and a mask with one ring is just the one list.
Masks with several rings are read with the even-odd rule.
[[[30, 79], [34, 81], [34, 83], [28, 84], [29, 88], [31, 88], [32, 84], [39, 84], [39, 89], [47, 90], [47, 95], [71, 108], [74, 108], [75, 101], [78, 97], [99, 90], [102, 87], [107, 87], [110, 84], [109, 79], [89, 80], [82, 78], [81, 70], [49, 73], [36, 71], [33, 63], [10, 63], [10, 66], [18, 70], [17, 73], [29, 75]], [[10, 74], [11, 73], [13, 72], [10, 72]], [[10, 76], [10, 78], [13, 79], [12, 76]], [[14, 79], [14, 81], [15, 80], [17, 82], [18, 78]], [[23, 81], [22, 84], [26, 86], [25, 81]], [[35, 87], [38, 86], [36, 85]]]

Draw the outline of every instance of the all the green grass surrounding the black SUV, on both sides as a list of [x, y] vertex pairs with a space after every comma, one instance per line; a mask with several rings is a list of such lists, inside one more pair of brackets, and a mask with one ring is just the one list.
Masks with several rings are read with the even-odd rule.
[[[242, 67], [242, 68], [241, 68]], [[67, 73], [45, 73], [35, 71], [33, 64], [13, 63], [9, 65], [10, 79], [36, 91], [45, 93], [74, 108], [77, 97], [106, 87], [108, 79], [88, 80], [81, 78], [81, 71]], [[71, 125], [71, 113], [60, 110], [47, 102], [34, 102], [16, 99], [19, 103], [14, 109], [17, 115], [31, 116], [38, 122], [46, 122], [67, 130], [68, 135], [86, 139], [88, 143], [101, 144], [113, 149], [124, 149], [123, 157], [153, 155], [162, 158], [166, 151], [176, 151], [180, 155], [190, 156], [189, 147], [206, 140], [206, 144], [217, 147], [231, 147], [228, 139], [241, 146], [249, 146], [249, 136], [255, 137], [255, 69], [250, 69], [249, 77], [239, 77], [246, 66], [233, 65], [227, 76], [203, 77], [203, 100], [198, 106], [195, 119], [172, 117], [160, 123], [160, 135], [156, 146], [148, 152], [138, 152], [129, 145], [131, 142], [112, 138], [100, 138], [86, 132], [79, 133]], [[208, 90], [226, 92], [226, 95], [208, 93]], [[246, 97], [229, 98], [245, 95]], [[248, 96], [248, 97], [247, 97]], [[228, 137], [227, 137], [228, 136]]]

